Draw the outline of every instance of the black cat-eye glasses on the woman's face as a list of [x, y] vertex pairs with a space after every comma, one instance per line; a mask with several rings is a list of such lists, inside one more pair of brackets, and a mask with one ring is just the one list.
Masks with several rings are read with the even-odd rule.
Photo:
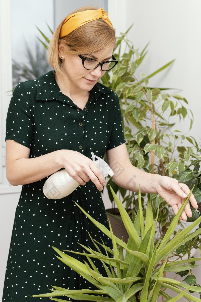
[[97, 65], [95, 65], [97, 62], [97, 60], [95, 60], [95, 59], [84, 57], [82, 55], [78, 55], [78, 56], [82, 59], [82, 65], [87, 70], [96, 69], [100, 65], [102, 71], [109, 71], [112, 68], [114, 68], [115, 65], [117, 65], [117, 63], [118, 63], [118, 61], [115, 59], [115, 57], [113, 55], [112, 55], [112, 61], [105, 61], [102, 63], [98, 63]]

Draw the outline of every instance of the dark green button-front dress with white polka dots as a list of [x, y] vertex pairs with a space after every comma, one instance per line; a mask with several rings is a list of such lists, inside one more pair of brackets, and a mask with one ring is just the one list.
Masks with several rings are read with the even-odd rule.
[[[78, 110], [79, 109], [79, 110]], [[84, 110], [63, 95], [53, 72], [20, 83], [13, 93], [6, 121], [6, 139], [31, 149], [30, 158], [59, 149], [78, 151], [92, 159], [125, 143], [117, 95], [97, 83]], [[16, 209], [5, 275], [3, 301], [47, 301], [29, 295], [49, 292], [53, 286], [92, 288], [85, 279], [63, 265], [51, 246], [82, 252], [79, 243], [91, 246], [92, 238], [111, 241], [75, 206], [108, 226], [101, 193], [89, 181], [62, 199], [47, 199], [42, 187], [47, 178], [23, 185]], [[55, 194], [55, 192], [52, 192]], [[73, 255], [82, 261], [80, 255]], [[104, 274], [101, 262], [97, 268]], [[67, 297], [62, 297], [69, 300]]]

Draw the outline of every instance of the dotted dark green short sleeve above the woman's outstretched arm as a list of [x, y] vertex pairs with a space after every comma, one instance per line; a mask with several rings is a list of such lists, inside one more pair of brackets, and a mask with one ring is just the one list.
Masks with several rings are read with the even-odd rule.
[[115, 148], [125, 143], [124, 132], [122, 127], [122, 113], [118, 96], [115, 94], [115, 114], [113, 117], [112, 132], [107, 150]]

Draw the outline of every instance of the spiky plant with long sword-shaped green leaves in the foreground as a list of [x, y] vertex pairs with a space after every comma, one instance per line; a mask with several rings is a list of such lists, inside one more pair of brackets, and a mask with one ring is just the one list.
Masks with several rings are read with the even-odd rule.
[[[164, 238], [159, 240], [157, 244], [154, 243], [154, 234], [157, 225], [159, 207], [157, 217], [154, 221], [151, 200], [148, 198], [146, 219], [144, 223], [141, 207], [141, 193], [139, 188], [139, 210], [134, 223], [132, 223], [125, 208], [122, 206], [112, 188], [111, 192], [129, 234], [128, 243], [125, 243], [113, 235], [111, 225], [110, 230], [108, 230], [104, 225], [94, 220], [88, 213], [86, 213], [79, 204], [76, 204], [92, 221], [92, 223], [112, 239], [113, 250], [105, 246], [103, 243], [98, 243], [96, 240], [91, 238], [94, 246], [96, 247], [94, 250], [82, 245], [84, 250], [83, 253], [72, 252], [85, 256], [86, 261], [83, 263], [74, 259], [70, 255], [63, 253], [56, 247], [53, 247], [59, 255], [57, 256], [59, 260], [88, 280], [97, 289], [68, 290], [53, 286], [54, 289], [52, 292], [35, 295], [34, 297], [50, 297], [51, 300], [59, 302], [66, 302], [66, 300], [56, 298], [60, 296], [66, 296], [75, 300], [101, 302], [156, 302], [157, 298], [162, 295], [167, 299], [167, 301], [171, 302], [177, 301], [180, 297], [184, 297], [187, 301], [201, 301], [199, 298], [187, 293], [189, 290], [191, 292], [200, 293], [201, 288], [199, 286], [189, 286], [181, 281], [163, 277], [164, 271], [179, 272], [184, 269], [191, 270], [197, 266], [195, 265], [195, 261], [201, 260], [201, 257], [199, 257], [170, 263], [167, 262], [168, 255], [173, 252], [173, 250], [177, 249], [187, 241], [192, 240], [201, 233], [201, 229], [197, 229], [190, 233], [193, 228], [201, 222], [201, 217], [199, 217], [196, 221], [192, 222], [172, 238], [172, 234], [177, 226], [181, 212], [188, 202], [191, 192], [177, 215], [174, 217]], [[99, 246], [104, 248], [105, 254], [101, 253]], [[102, 262], [105, 267], [107, 277], [103, 277], [99, 273], [98, 269], [92, 262], [92, 259], [94, 258], [99, 259]], [[167, 294], [165, 292], [165, 289], [167, 288], [176, 292], [177, 296], [171, 297], [170, 294]]]

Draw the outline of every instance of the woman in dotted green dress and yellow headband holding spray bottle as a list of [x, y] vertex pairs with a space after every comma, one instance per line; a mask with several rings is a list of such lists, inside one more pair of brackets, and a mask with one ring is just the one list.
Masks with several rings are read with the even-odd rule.
[[[118, 97], [98, 83], [117, 63], [114, 48], [115, 30], [107, 13], [80, 8], [64, 19], [53, 35], [48, 61], [54, 72], [15, 88], [6, 124], [6, 173], [12, 185], [22, 184], [23, 188], [3, 301], [32, 301], [29, 295], [47, 292], [50, 284], [90, 288], [82, 277], [57, 261], [51, 245], [82, 251], [79, 243], [92, 244], [89, 235], [111, 245], [72, 202], [108, 226], [100, 193], [105, 178], [92, 162], [91, 151], [101, 158], [106, 152], [109, 165], [118, 162], [124, 167], [120, 175], [113, 176], [115, 183], [131, 191], [138, 191], [140, 183], [143, 192], [159, 193], [175, 214], [190, 192], [174, 179], [131, 165]], [[44, 182], [62, 168], [80, 186], [66, 198], [47, 199], [42, 191]], [[53, 198], [55, 192], [50, 194]], [[193, 195], [190, 201], [197, 208]], [[186, 220], [191, 215], [187, 204], [180, 218]]]

